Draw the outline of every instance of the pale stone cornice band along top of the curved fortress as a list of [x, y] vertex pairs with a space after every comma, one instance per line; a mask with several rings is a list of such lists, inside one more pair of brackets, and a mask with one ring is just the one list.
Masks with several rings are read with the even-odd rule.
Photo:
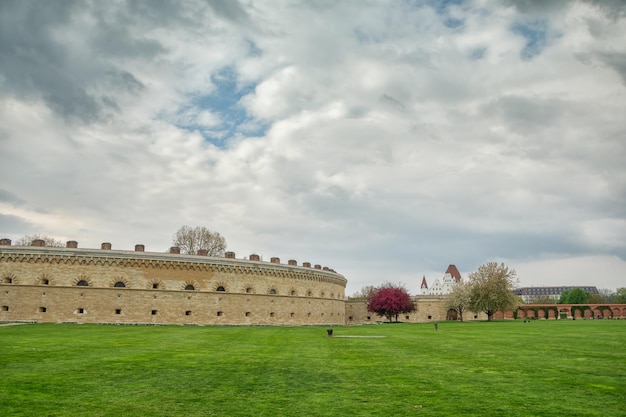
[[341, 274], [314, 268], [244, 259], [155, 252], [2, 246], [0, 247], [0, 262], [210, 271], [237, 275], [265, 275], [287, 279], [329, 282], [344, 287], [347, 283], [347, 280]]

